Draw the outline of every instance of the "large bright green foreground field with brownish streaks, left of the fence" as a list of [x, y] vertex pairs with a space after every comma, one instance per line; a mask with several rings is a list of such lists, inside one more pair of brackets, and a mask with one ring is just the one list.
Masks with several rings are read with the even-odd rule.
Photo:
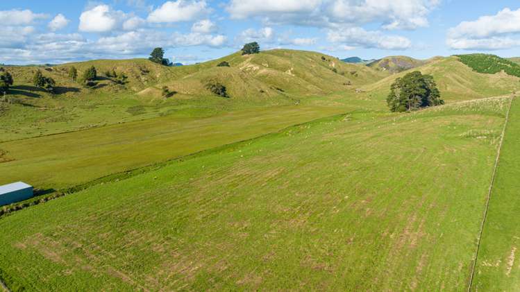
[[0, 277], [13, 291], [462, 291], [508, 102], [322, 119], [15, 212]]

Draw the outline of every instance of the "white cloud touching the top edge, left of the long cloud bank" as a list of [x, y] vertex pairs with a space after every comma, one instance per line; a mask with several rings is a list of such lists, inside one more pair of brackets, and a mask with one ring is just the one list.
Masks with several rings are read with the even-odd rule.
[[190, 22], [208, 13], [206, 1], [177, 0], [167, 1], [153, 10], [148, 16], [149, 22]]

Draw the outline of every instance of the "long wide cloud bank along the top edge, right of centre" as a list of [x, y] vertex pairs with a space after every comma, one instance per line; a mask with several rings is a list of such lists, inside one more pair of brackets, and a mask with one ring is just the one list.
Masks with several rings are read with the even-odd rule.
[[384, 29], [428, 26], [428, 14], [439, 0], [231, 0], [233, 19], [260, 17], [267, 24], [360, 26], [380, 23]]

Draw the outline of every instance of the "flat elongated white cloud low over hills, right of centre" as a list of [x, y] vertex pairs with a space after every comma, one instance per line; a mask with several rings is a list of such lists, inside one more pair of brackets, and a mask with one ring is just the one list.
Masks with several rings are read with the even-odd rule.
[[412, 42], [406, 37], [385, 35], [380, 31], [365, 31], [359, 27], [329, 30], [327, 40], [365, 49], [404, 50], [412, 46]]

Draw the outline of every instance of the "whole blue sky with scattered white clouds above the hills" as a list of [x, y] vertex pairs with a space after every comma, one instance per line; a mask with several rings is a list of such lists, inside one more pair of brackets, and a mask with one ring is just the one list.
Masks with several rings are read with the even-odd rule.
[[0, 63], [165, 58], [192, 64], [256, 41], [339, 58], [520, 56], [518, 0], [0, 1]]

